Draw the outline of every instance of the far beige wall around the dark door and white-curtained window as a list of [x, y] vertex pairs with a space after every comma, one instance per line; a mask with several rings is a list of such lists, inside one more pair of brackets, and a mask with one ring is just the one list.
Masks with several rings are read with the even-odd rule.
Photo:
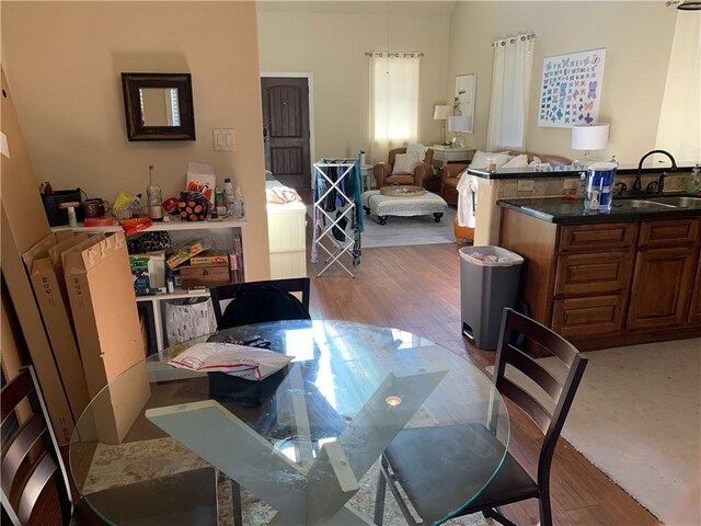
[[[392, 50], [424, 53], [418, 139], [440, 140], [451, 2], [389, 2]], [[387, 2], [258, 2], [261, 71], [313, 73], [312, 157], [369, 152], [369, 50], [387, 49]]]

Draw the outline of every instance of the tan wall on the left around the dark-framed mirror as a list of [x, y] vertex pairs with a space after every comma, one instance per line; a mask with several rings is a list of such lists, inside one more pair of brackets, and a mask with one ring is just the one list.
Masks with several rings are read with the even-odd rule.
[[[269, 275], [255, 3], [3, 1], [2, 47], [38, 181], [114, 201], [154, 164], [168, 197], [187, 161], [211, 162], [246, 201], [246, 277]], [[191, 72], [197, 140], [128, 142], [123, 71]], [[214, 151], [215, 127], [237, 151]]]

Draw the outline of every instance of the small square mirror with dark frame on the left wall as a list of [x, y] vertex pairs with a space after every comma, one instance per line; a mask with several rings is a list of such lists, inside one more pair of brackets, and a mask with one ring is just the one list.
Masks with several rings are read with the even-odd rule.
[[189, 73], [122, 73], [129, 140], [195, 140]]

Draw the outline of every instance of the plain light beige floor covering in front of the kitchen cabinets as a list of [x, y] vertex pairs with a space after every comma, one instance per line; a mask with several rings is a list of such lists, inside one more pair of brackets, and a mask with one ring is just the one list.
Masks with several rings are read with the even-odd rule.
[[[562, 436], [667, 523], [701, 469], [701, 339], [587, 353]], [[555, 377], [556, 358], [541, 358]]]

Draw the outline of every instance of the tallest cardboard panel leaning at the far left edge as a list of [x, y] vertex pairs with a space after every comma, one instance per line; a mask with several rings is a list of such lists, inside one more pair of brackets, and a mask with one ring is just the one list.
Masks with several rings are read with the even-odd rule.
[[36, 376], [44, 391], [56, 437], [59, 444], [68, 444], [73, 428], [73, 416], [58, 367], [54, 362], [48, 336], [42, 324], [30, 277], [22, 263], [22, 254], [48, 236], [50, 229], [4, 72], [1, 77], [2, 121], [0, 125], [8, 145], [8, 151], [0, 155], [2, 160], [0, 192], [2, 195], [2, 236], [0, 236], [2, 238], [2, 273], [8, 283], [12, 305], [20, 320]]

